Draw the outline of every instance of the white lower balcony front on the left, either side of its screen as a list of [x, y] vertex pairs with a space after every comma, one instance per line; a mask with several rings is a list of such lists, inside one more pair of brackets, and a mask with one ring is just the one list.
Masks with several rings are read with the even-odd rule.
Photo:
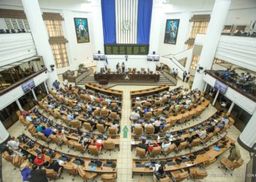
[[[48, 78], [48, 73], [45, 74], [45, 72], [43, 72], [42, 74], [39, 74], [38, 76], [34, 77], [34, 84], [37, 87], [37, 85], [41, 84]], [[21, 85], [11, 90], [10, 92], [7, 92], [6, 94], [1, 95], [0, 110], [15, 102], [15, 100], [18, 100], [18, 98], [20, 98], [23, 95], [25, 95], [25, 93], [23, 92]]]

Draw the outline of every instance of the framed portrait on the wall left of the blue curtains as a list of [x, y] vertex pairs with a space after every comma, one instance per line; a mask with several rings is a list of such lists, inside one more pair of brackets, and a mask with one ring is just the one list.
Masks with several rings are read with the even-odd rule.
[[89, 28], [87, 18], [74, 17], [75, 33], [78, 43], [89, 42]]

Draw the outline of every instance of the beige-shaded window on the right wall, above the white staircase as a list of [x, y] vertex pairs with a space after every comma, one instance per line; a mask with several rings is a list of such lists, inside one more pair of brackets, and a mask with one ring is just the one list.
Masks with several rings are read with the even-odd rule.
[[189, 22], [192, 22], [189, 39], [185, 42], [187, 49], [191, 49], [195, 42], [197, 33], [205, 34], [207, 31], [208, 23], [211, 19], [210, 15], [194, 15]]

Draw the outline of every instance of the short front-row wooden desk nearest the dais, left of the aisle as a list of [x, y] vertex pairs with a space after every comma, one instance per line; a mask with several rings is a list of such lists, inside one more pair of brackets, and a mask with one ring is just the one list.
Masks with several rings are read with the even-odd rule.
[[85, 85], [86, 85], [86, 89], [94, 90], [95, 92], [100, 92], [106, 95], [114, 95], [119, 98], [123, 96], [123, 91], [120, 91], [120, 90], [108, 89], [106, 87], [98, 86], [97, 84], [86, 83]]

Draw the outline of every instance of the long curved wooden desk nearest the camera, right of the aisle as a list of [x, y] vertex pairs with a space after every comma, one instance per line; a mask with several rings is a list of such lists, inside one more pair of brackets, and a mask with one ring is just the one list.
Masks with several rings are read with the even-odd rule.
[[[165, 172], [170, 172], [170, 171], [173, 171], [173, 170], [181, 170], [181, 169], [184, 169], [184, 168], [187, 168], [187, 167], [192, 167], [192, 166], [195, 166], [195, 165], [199, 165], [203, 162], [206, 162], [208, 161], [209, 159], [212, 159], [212, 158], [216, 158], [218, 157], [220, 154], [224, 153], [225, 151], [227, 151], [228, 149], [230, 149], [230, 146], [231, 146], [231, 143], [234, 143], [235, 141], [233, 141], [231, 138], [229, 137], [225, 137], [226, 140], [228, 140], [227, 142], [227, 145], [222, 148], [222, 149], [219, 149], [220, 151], [215, 151], [214, 150], [214, 145], [211, 145], [209, 147], [209, 151], [206, 151], [205, 154], [197, 154], [197, 157], [195, 159], [195, 161], [189, 161], [189, 162], [182, 162], [181, 165], [165, 165], [164, 168], [165, 168]], [[222, 143], [219, 143], [219, 145], [221, 145]], [[204, 149], [203, 149], [204, 150]], [[194, 155], [193, 153], [195, 152], [192, 152], [190, 154], [187, 154], [186, 156], [189, 157], [190, 155]], [[175, 161], [175, 159], [180, 159], [180, 157], [171, 157], [171, 158], [167, 158], [167, 159], [173, 159], [173, 161]], [[161, 159], [161, 161], [167, 161], [167, 159]], [[146, 162], [152, 162], [152, 161], [155, 161], [155, 162], [159, 162], [159, 159], [132, 159], [132, 178], [133, 178], [133, 175], [135, 173], [154, 173], [154, 168], [152, 167], [136, 167], [136, 161], [140, 161], [141, 164], [145, 164]]]

